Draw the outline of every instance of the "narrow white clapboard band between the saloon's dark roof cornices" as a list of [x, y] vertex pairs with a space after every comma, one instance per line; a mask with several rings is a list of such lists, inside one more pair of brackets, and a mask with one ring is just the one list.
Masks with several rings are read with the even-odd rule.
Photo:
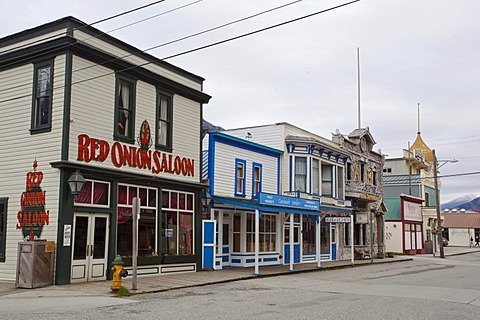
[[202, 84], [200, 82], [193, 81], [187, 77], [179, 75], [178, 73], [170, 71], [167, 68], [163, 68], [157, 64], [149, 63], [150, 62], [149, 60], [141, 58], [138, 55], [132, 55], [130, 52], [120, 49], [119, 47], [114, 46], [112, 44], [109, 44], [108, 42], [103, 41], [98, 37], [92, 37], [91, 35], [79, 30], [74, 31], [74, 36], [75, 38], [79, 39], [83, 43], [86, 43], [92, 47], [95, 47], [100, 51], [108, 52], [109, 54], [122, 58], [123, 60], [128, 61], [132, 64], [142, 65], [142, 68], [144, 69], [147, 69], [156, 74], [162, 75], [165, 78], [171, 79], [187, 87], [190, 87], [199, 91], [202, 90]]

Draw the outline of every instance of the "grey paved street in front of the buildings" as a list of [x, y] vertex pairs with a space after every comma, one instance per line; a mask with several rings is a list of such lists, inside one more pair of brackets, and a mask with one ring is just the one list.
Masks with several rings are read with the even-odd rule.
[[[1, 319], [480, 319], [480, 253], [297, 273], [130, 298], [70, 301]], [[92, 299], [93, 301], [93, 299]], [[7, 308], [8, 309], [8, 308]]]

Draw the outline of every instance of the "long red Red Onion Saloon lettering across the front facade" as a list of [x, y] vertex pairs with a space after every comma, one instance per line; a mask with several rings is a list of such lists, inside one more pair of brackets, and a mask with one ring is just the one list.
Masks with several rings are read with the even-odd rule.
[[86, 134], [78, 136], [77, 161], [105, 162], [110, 159], [117, 168], [128, 166], [140, 170], [150, 170], [153, 174], [160, 172], [195, 176], [195, 160], [159, 150], [148, 150], [149, 131], [147, 126], [142, 125], [144, 134], [139, 140], [140, 148], [131, 145], [123, 145], [120, 142], [109, 144], [108, 141], [91, 138]]

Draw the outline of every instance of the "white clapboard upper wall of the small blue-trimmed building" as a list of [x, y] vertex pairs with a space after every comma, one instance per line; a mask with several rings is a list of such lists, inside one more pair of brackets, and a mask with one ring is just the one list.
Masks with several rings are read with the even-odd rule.
[[[231, 145], [216, 143], [214, 159], [213, 194], [216, 196], [234, 197], [235, 195], [235, 159], [246, 161], [245, 190], [246, 198], [252, 197], [253, 163], [262, 165], [262, 191], [277, 193], [278, 160], [275, 157], [259, 152], [237, 148]], [[213, 159], [209, 159], [212, 161]]]

